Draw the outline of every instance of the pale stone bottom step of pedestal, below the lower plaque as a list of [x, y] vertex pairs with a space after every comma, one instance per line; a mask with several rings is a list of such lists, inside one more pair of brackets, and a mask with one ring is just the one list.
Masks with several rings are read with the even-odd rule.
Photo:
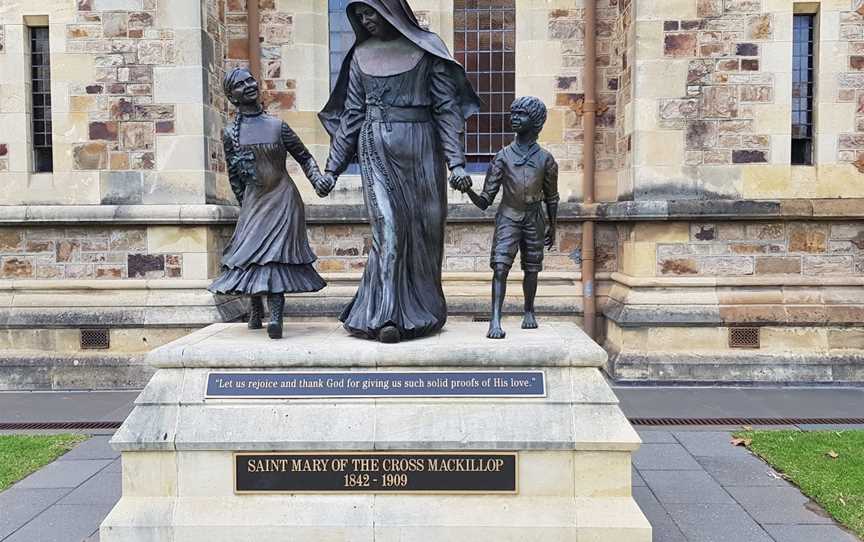
[[123, 497], [102, 542], [650, 542], [629, 497], [290, 495]]

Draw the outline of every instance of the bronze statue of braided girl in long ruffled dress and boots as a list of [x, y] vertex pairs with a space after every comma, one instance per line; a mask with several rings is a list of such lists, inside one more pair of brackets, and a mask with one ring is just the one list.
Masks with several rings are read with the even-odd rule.
[[297, 134], [264, 113], [258, 82], [249, 70], [236, 68], [226, 75], [223, 90], [237, 107], [222, 141], [240, 216], [222, 255], [222, 274], [209, 290], [251, 296], [249, 329], [261, 329], [262, 298], [267, 296], [267, 334], [279, 339], [285, 294], [315, 292], [326, 285], [312, 267], [316, 257], [306, 238], [303, 200], [285, 169], [286, 154], [300, 164], [319, 196], [329, 191], [328, 179]]

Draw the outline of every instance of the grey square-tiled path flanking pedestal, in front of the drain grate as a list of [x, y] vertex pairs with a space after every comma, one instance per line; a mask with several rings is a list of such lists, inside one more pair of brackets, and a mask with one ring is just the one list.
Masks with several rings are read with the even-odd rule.
[[[639, 431], [633, 495], [654, 542], [858, 542], [726, 431]], [[120, 459], [95, 436], [0, 493], [0, 541], [95, 542]]]

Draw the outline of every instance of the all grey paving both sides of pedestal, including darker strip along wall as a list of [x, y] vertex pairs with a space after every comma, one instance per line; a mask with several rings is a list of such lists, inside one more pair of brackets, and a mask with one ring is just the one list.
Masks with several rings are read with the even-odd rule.
[[[615, 391], [631, 417], [836, 418], [864, 412], [862, 388]], [[119, 421], [136, 395], [0, 393], [0, 422]], [[732, 446], [729, 431], [639, 434], [644, 444], [633, 458], [633, 495], [654, 527], [654, 542], [858, 542], [765, 463]], [[0, 542], [98, 541], [99, 524], [120, 498], [120, 460], [109, 438], [94, 436], [0, 493]]]

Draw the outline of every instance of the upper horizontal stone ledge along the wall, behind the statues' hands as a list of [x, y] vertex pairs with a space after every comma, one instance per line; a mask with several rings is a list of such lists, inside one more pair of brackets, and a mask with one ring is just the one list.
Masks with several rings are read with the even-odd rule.
[[[236, 205], [4, 205], [0, 224], [233, 224]], [[451, 203], [448, 221], [493, 222], [496, 208], [481, 211], [471, 204]], [[864, 198], [788, 200], [619, 201], [583, 205], [562, 203], [562, 222], [675, 220], [812, 220], [862, 219]], [[366, 208], [359, 203], [310, 203], [309, 224], [362, 224]]]

